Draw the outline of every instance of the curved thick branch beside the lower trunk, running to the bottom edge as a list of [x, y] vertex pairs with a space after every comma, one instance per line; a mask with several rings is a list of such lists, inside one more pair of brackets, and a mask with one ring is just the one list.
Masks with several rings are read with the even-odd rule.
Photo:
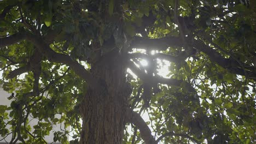
[[147, 144], [157, 144], [153, 135], [151, 134], [151, 130], [149, 129], [147, 123], [143, 120], [143, 118], [136, 112], [130, 112], [130, 122], [135, 124], [136, 127], [141, 132], [141, 137]]

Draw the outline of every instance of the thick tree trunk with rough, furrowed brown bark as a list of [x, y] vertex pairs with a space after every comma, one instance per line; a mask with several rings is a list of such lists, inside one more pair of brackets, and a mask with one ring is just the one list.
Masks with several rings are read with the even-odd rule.
[[96, 90], [88, 89], [80, 109], [83, 117], [81, 144], [122, 143], [131, 89], [121, 59], [117, 53], [92, 65], [91, 72], [102, 85]]

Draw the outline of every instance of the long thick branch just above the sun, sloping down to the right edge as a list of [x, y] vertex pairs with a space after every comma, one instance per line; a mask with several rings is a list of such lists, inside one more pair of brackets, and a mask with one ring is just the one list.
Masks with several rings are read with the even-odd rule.
[[[182, 47], [182, 40], [178, 37], [165, 37], [160, 39], [147, 39], [143, 37], [135, 37], [135, 39], [133, 39], [131, 43], [132, 48], [146, 50], [166, 50], [169, 46]], [[188, 43], [188, 46], [195, 47], [195, 49], [202, 51], [210, 57], [212, 62], [217, 63], [221, 67], [228, 70], [230, 73], [244, 75], [250, 79], [256, 79], [255, 71], [250, 71], [242, 68], [242, 65], [245, 64], [242, 63], [241, 65], [238, 62], [234, 61], [234, 59], [224, 58], [222, 55], [220, 55], [219, 52], [212, 49], [210, 46], [207, 46], [206, 44], [202, 43], [202, 41], [200, 40], [193, 40], [193, 42]], [[171, 61], [173, 60], [173, 57], [169, 58], [171, 59]]]

